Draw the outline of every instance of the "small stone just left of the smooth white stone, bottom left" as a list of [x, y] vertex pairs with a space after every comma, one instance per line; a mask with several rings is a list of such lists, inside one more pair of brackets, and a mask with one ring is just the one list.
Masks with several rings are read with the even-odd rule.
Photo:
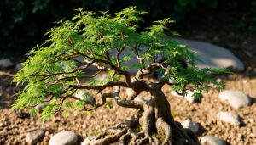
[[44, 132], [43, 129], [28, 132], [26, 134], [26, 142], [28, 144], [37, 144], [37, 142], [44, 137]]

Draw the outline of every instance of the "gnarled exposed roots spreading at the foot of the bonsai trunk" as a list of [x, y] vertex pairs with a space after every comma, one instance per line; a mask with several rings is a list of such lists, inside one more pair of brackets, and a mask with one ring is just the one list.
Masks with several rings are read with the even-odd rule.
[[[124, 124], [103, 131], [100, 135], [90, 142], [90, 145], [108, 145], [118, 142], [119, 145], [197, 145], [197, 137], [192, 131], [183, 129], [176, 122], [168, 124], [163, 118], [157, 118], [153, 121], [149, 116], [154, 116], [154, 111], [147, 114], [136, 114], [127, 120]], [[136, 131], [138, 126], [138, 117], [141, 116], [141, 131]], [[146, 122], [144, 122], [147, 120]], [[148, 121], [150, 120], [150, 121]], [[136, 125], [137, 124], [137, 125]], [[153, 128], [155, 126], [155, 129]], [[153, 134], [154, 133], [154, 134]], [[164, 138], [163, 138], [164, 137]]]

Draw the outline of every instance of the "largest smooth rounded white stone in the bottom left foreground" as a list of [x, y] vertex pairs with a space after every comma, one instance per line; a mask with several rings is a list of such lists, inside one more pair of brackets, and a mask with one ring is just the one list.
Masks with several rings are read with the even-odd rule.
[[61, 131], [49, 140], [49, 145], [75, 145], [78, 137], [72, 131]]

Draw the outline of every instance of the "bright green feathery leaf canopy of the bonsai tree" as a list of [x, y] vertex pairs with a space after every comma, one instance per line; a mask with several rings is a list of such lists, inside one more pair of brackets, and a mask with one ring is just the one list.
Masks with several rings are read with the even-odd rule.
[[[131, 87], [128, 70], [150, 70], [165, 73], [167, 81], [175, 78], [172, 89], [177, 92], [196, 90], [195, 97], [204, 90], [209, 90], [211, 84], [218, 90], [223, 84], [207, 75], [218, 74], [224, 70], [198, 69], [195, 67], [194, 54], [189, 49], [166, 35], [167, 24], [172, 20], [154, 21], [146, 31], [137, 33], [138, 23], [143, 21], [146, 12], [137, 11], [135, 7], [125, 8], [114, 16], [108, 12], [96, 14], [76, 10], [72, 20], [60, 20], [58, 26], [50, 29], [45, 35], [49, 39], [41, 46], [34, 47], [28, 53], [29, 59], [23, 68], [15, 75], [17, 84], [26, 87], [18, 92], [19, 98], [13, 105], [14, 109], [31, 108], [30, 113], [36, 114], [33, 107], [39, 103], [49, 102], [43, 110], [43, 119], [49, 118], [61, 108], [82, 108], [84, 105], [94, 105], [85, 97], [75, 98], [80, 89], [102, 92], [108, 86]], [[130, 54], [120, 57], [125, 49]], [[82, 60], [77, 59], [82, 56]], [[137, 64], [127, 64], [133, 56], [137, 56]], [[165, 58], [158, 63], [157, 59]], [[183, 68], [180, 60], [185, 60], [189, 66]], [[88, 67], [96, 65], [95, 75], [90, 75]], [[102, 70], [108, 71], [108, 77], [96, 80], [95, 76]], [[119, 81], [120, 76], [126, 77], [126, 82]], [[84, 84], [79, 79], [87, 78]], [[96, 93], [97, 93], [96, 92]], [[84, 93], [88, 96], [89, 93]], [[74, 98], [77, 101], [69, 101]]]

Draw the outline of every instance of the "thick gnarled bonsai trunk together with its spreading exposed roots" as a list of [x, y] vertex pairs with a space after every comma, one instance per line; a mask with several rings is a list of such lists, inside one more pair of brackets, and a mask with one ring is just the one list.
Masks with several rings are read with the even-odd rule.
[[[192, 131], [183, 129], [180, 123], [173, 120], [170, 104], [161, 88], [152, 86], [148, 92], [152, 98], [144, 104], [142, 112], [138, 112], [124, 124], [102, 132], [90, 144], [119, 142], [119, 145], [199, 145]], [[138, 128], [141, 128], [140, 131], [137, 131]]]

